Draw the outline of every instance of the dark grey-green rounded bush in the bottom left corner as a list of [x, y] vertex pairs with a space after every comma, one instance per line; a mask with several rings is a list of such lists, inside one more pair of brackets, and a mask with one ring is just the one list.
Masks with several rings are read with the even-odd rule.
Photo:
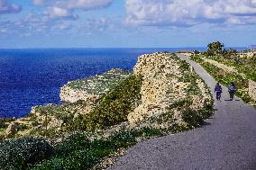
[[12, 139], [0, 142], [0, 169], [26, 169], [53, 154], [44, 139]]

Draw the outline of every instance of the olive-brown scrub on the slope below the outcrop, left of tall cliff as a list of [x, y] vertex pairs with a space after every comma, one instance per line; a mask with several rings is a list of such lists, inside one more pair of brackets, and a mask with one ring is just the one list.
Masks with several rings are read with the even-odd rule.
[[[40, 113], [41, 120], [32, 119], [33, 124], [37, 126], [32, 129], [31, 135], [47, 138], [61, 137], [69, 131], [102, 130], [127, 121], [128, 113], [132, 112], [141, 100], [141, 85], [142, 76], [129, 76], [104, 94], [88, 114], [79, 113], [80, 110], [86, 110], [87, 103], [84, 101], [39, 106], [35, 109]], [[61, 122], [60, 130], [56, 127], [49, 128], [52, 119]]]

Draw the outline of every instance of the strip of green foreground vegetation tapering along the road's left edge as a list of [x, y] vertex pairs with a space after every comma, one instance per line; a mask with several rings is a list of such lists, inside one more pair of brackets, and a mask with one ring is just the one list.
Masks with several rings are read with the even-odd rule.
[[114, 133], [107, 139], [90, 141], [86, 134], [77, 133], [65, 139], [55, 147], [53, 157], [45, 159], [32, 170], [85, 170], [95, 166], [103, 157], [106, 157], [119, 148], [129, 148], [142, 139], [162, 136], [168, 131], [185, 130], [177, 124], [169, 130], [142, 128], [140, 130], [122, 130]]

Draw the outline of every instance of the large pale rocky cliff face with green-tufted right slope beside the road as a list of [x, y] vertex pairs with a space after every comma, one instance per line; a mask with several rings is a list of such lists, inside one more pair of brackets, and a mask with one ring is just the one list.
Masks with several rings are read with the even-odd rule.
[[[154, 53], [142, 55], [133, 68], [142, 75], [142, 102], [128, 115], [131, 124], [170, 112], [175, 103], [190, 103], [190, 108], [204, 107], [211, 96], [197, 74], [175, 55]], [[182, 123], [181, 113], [172, 109], [174, 119]]]

